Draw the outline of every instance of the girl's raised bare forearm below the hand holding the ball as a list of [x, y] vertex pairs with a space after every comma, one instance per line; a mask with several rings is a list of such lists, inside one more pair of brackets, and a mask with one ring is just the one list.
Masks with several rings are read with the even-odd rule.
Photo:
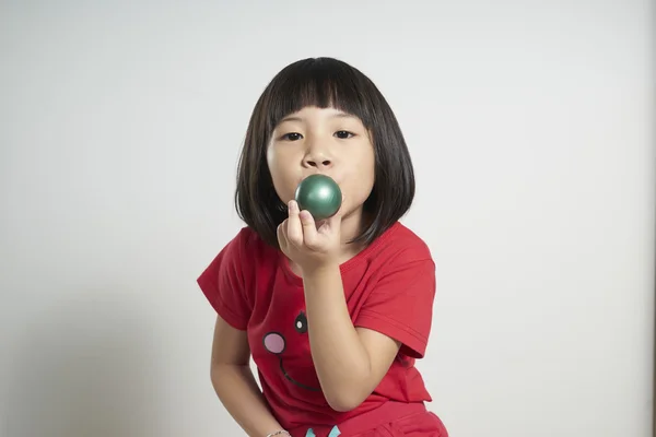
[[363, 391], [371, 366], [349, 315], [339, 265], [304, 272], [303, 281], [312, 357], [321, 389], [333, 409], [350, 410], [368, 394]]

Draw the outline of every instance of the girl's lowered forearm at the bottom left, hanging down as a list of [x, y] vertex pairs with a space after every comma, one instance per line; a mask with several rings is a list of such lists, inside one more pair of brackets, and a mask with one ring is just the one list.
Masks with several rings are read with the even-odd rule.
[[249, 437], [282, 429], [248, 366], [213, 365], [211, 379], [223, 406]]

